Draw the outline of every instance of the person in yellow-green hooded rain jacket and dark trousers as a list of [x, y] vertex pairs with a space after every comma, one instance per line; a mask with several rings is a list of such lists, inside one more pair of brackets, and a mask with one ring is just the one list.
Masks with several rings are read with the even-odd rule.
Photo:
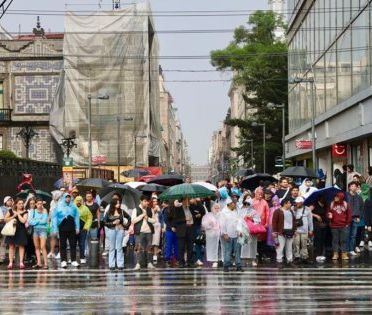
[[79, 253], [80, 253], [80, 263], [85, 264], [85, 242], [87, 239], [88, 231], [92, 226], [93, 222], [93, 215], [90, 212], [89, 208], [84, 204], [84, 199], [81, 196], [77, 196], [74, 200], [76, 207], [79, 210], [79, 217], [80, 217], [80, 233], [77, 237], [77, 241], [79, 244]]

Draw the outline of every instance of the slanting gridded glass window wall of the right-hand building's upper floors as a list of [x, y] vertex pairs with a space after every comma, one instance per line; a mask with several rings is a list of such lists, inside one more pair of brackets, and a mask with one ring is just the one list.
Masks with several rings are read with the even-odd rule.
[[[316, 0], [307, 12], [296, 12], [299, 2], [288, 1], [289, 21], [295, 14], [302, 21], [290, 31], [288, 76], [314, 78], [316, 115], [321, 115], [371, 85], [372, 4]], [[289, 85], [290, 132], [311, 120], [311, 88], [305, 82]]]

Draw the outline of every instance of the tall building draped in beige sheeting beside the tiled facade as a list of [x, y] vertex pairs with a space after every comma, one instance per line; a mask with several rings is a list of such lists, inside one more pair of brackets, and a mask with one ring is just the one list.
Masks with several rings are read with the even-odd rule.
[[160, 158], [158, 41], [148, 4], [65, 17], [63, 71], [50, 112], [60, 143], [74, 134], [75, 164], [157, 166]]

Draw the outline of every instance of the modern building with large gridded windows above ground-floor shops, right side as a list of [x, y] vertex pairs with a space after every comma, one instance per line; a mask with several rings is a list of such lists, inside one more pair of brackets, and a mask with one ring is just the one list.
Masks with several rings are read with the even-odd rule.
[[[297, 83], [288, 87], [286, 155], [312, 166], [311, 150], [296, 141], [311, 139], [314, 106], [319, 168], [330, 175], [351, 163], [365, 174], [372, 165], [371, 4], [290, 0], [288, 11], [288, 76]], [[345, 154], [332, 153], [333, 145], [343, 145]]]

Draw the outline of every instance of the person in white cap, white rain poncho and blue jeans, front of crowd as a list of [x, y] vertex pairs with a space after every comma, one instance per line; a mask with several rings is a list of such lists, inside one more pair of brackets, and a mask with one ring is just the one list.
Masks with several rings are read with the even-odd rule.
[[241, 266], [241, 245], [238, 242], [238, 225], [241, 220], [236, 204], [228, 198], [226, 200], [227, 211], [221, 213], [220, 228], [223, 247], [223, 270], [229, 272], [231, 257], [235, 258], [236, 271], [243, 271]]

